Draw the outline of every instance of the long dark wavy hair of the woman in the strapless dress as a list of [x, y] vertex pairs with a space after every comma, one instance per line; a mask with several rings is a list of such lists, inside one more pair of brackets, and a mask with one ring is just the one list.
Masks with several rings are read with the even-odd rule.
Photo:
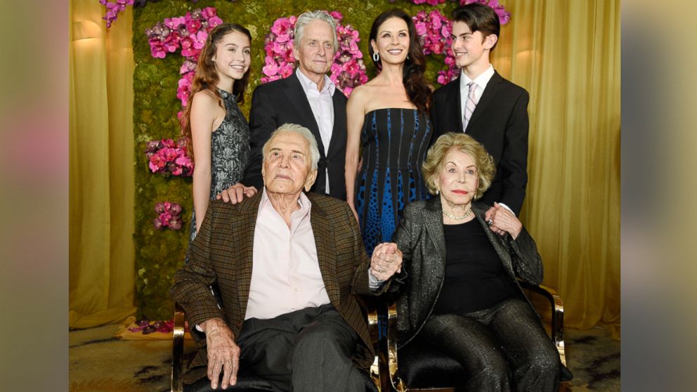
[[[421, 40], [416, 34], [414, 21], [409, 14], [398, 8], [381, 13], [375, 18], [374, 22], [372, 22], [369, 40], [377, 40], [377, 30], [389, 18], [400, 18], [407, 23], [407, 28], [409, 30], [409, 55], [404, 62], [402, 83], [404, 84], [404, 89], [407, 91], [407, 96], [411, 103], [416, 105], [419, 111], [424, 113], [428, 112], [429, 105], [431, 104], [431, 88], [429, 84], [426, 83], [426, 76], [424, 75], [424, 72], [426, 72], [426, 55], [424, 55]], [[382, 63], [372, 58], [374, 53], [372, 45], [368, 45], [368, 52], [370, 53], [370, 58], [375, 67], [378, 70], [382, 70]]]

